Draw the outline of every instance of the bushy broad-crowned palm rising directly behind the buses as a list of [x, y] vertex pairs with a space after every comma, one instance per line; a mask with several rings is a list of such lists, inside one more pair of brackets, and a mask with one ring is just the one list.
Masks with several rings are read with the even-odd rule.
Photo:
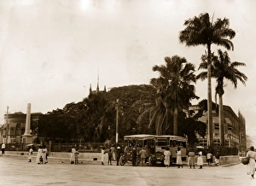
[[[166, 66], [154, 66], [153, 71], [159, 72], [159, 78], [152, 78], [151, 84], [159, 89], [162, 105], [165, 106], [165, 119], [168, 111], [173, 113], [173, 134], [177, 135], [177, 112], [188, 109], [189, 101], [195, 96], [195, 66], [187, 63], [185, 58], [177, 55], [166, 57]], [[163, 113], [163, 112], [162, 112]], [[166, 124], [167, 125], [167, 124]]]

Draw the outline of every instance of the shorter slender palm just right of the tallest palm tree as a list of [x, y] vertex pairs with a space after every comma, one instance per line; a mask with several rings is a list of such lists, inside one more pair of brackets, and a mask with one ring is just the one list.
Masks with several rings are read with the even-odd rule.
[[[207, 69], [206, 56], [202, 56], [202, 63], [199, 69]], [[235, 89], [237, 88], [237, 80], [241, 81], [242, 84], [246, 84], [247, 76], [236, 69], [239, 66], [246, 66], [243, 62], [231, 62], [227, 51], [222, 52], [218, 49], [218, 56], [212, 55], [212, 78], [216, 78], [216, 95], [218, 94], [218, 117], [219, 117], [219, 133], [220, 133], [220, 144], [224, 146], [224, 110], [223, 110], [223, 95], [224, 95], [224, 79], [230, 80], [234, 84]], [[198, 78], [207, 78], [207, 73], [202, 72], [198, 74]]]

